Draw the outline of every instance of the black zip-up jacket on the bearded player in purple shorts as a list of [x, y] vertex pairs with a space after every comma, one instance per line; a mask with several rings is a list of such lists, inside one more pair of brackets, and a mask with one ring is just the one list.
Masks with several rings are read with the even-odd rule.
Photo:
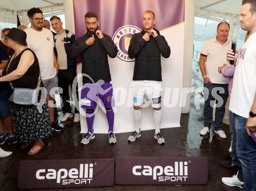
[[104, 80], [104, 82], [111, 81], [111, 74], [109, 71], [108, 56], [116, 57], [118, 48], [112, 41], [111, 37], [103, 34], [104, 37], [99, 39], [97, 35], [94, 35], [94, 44], [88, 46], [86, 40], [92, 35], [86, 33], [85, 35], [77, 38], [74, 44], [69, 48], [68, 55], [71, 59], [78, 55], [82, 57], [82, 73], [87, 74], [88, 77], [83, 77], [83, 83], [96, 83], [98, 80]]

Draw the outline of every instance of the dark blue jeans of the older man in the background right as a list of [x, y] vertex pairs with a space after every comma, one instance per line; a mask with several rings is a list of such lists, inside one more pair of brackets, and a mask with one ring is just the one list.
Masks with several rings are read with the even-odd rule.
[[[223, 92], [217, 91], [217, 89], [222, 89]], [[229, 96], [228, 84], [204, 84], [204, 96], [204, 127], [211, 128], [212, 126], [212, 111], [216, 102], [214, 129], [215, 131], [222, 130], [225, 106]], [[222, 104], [221, 99], [223, 100]], [[221, 105], [218, 106], [218, 103]]]

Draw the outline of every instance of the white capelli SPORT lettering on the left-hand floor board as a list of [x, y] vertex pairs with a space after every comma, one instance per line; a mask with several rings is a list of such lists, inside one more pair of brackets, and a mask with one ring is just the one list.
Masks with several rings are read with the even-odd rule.
[[52, 168], [39, 169], [35, 173], [38, 180], [55, 180], [61, 185], [88, 185], [93, 181], [93, 167], [97, 163], [80, 164], [78, 168], [61, 168], [55, 170]]

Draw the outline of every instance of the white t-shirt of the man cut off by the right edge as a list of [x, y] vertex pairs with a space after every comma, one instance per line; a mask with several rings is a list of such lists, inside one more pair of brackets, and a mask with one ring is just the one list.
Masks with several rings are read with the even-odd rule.
[[256, 92], [256, 33], [251, 34], [237, 55], [229, 110], [249, 117]]

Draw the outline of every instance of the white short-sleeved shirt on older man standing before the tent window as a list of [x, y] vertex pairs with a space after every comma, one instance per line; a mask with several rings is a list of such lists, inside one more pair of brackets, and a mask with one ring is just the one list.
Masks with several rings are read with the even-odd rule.
[[227, 51], [231, 49], [232, 42], [227, 40], [227, 42], [221, 45], [216, 37], [205, 41], [204, 46], [202, 46], [201, 54], [207, 56], [205, 62], [205, 69], [207, 77], [214, 84], [227, 84], [229, 78], [224, 78], [221, 73], [218, 72], [218, 67], [223, 66], [227, 62]]

